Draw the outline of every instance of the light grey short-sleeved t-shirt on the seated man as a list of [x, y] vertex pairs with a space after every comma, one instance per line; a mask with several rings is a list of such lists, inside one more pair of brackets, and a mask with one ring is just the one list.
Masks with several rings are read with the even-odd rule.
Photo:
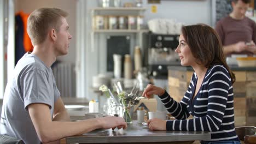
[[46, 104], [53, 117], [54, 103], [60, 98], [53, 71], [36, 55], [26, 53], [16, 64], [12, 76], [4, 92], [1, 134], [22, 139], [27, 144], [40, 143], [27, 106]]

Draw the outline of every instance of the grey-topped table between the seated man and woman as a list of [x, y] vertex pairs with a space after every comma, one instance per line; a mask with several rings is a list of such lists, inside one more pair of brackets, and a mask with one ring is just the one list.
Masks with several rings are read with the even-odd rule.
[[[66, 137], [67, 143], [193, 143], [210, 140], [205, 131], [156, 131], [133, 121], [127, 129], [98, 129], [83, 135]], [[182, 141], [182, 142], [181, 142]]]

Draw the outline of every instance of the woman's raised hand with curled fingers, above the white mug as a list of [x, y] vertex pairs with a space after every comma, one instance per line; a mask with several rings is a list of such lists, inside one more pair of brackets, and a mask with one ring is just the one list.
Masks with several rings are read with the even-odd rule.
[[165, 93], [165, 89], [161, 87], [156, 87], [154, 85], [148, 85], [143, 92], [143, 96], [146, 98], [150, 98], [150, 95], [156, 94], [156, 95], [163, 95]]

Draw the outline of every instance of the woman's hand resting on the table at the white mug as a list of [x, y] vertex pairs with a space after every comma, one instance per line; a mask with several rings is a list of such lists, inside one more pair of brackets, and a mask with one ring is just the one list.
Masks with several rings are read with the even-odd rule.
[[149, 119], [148, 128], [150, 130], [166, 130], [166, 120], [159, 118]]

